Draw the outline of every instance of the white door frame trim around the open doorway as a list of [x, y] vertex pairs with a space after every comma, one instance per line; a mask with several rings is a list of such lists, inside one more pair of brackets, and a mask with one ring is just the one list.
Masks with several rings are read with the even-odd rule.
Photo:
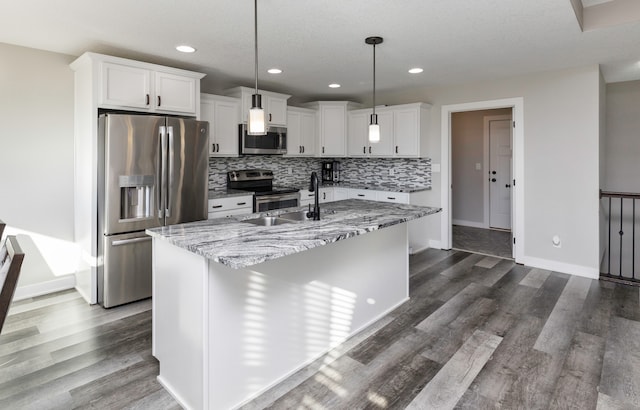
[[513, 188], [511, 212], [514, 225], [511, 227], [515, 260], [518, 263], [524, 258], [524, 98], [505, 98], [500, 100], [478, 101], [463, 104], [442, 106], [441, 114], [441, 226], [440, 243], [442, 249], [451, 249], [451, 114], [454, 112], [479, 111], [495, 108], [511, 108], [515, 128], [513, 130]]

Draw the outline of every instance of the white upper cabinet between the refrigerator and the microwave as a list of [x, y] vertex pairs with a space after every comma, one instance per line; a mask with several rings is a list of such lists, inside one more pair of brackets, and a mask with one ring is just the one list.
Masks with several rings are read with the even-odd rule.
[[239, 152], [240, 100], [201, 94], [200, 119], [209, 122], [209, 156], [237, 157]]

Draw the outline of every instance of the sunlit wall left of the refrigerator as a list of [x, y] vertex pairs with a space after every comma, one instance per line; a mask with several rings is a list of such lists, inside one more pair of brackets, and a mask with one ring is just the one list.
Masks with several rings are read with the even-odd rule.
[[73, 57], [0, 43], [0, 218], [31, 275], [73, 273]]

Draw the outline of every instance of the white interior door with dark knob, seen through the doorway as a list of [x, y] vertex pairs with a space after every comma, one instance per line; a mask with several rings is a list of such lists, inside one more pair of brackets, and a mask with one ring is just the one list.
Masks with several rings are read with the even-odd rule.
[[489, 122], [489, 227], [511, 229], [511, 120]]

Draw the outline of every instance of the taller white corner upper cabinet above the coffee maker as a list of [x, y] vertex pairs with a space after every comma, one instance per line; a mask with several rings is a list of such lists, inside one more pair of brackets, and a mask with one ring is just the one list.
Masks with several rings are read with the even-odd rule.
[[345, 157], [347, 155], [347, 112], [355, 108], [355, 104], [348, 101], [316, 101], [305, 106], [316, 110], [318, 156]]

